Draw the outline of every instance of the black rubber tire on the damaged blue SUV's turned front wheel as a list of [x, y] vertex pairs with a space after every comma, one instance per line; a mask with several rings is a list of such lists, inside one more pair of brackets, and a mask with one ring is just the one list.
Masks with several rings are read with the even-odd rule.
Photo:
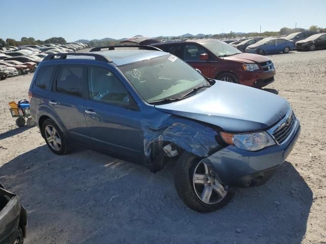
[[[216, 184], [214, 181], [214, 186], [222, 186], [224, 189], [223, 194], [225, 195], [223, 195], [223, 197], [220, 197], [220, 195], [218, 195], [216, 191], [211, 190], [208, 202], [210, 201], [210, 199], [213, 199], [213, 197], [216, 196], [218, 201], [205, 203], [198, 194], [199, 192], [197, 186], [202, 186], [205, 189], [206, 187], [211, 188], [213, 187], [213, 185], [211, 185], [210, 183], [209, 187], [207, 185], [208, 183], [206, 183], [206, 185], [195, 185], [194, 173], [198, 172], [198, 166], [201, 165], [201, 163], [199, 162], [200, 158], [188, 152], [185, 152], [180, 156], [175, 168], [175, 187], [177, 189], [179, 197], [189, 208], [198, 212], [216, 211], [225, 206], [232, 199], [233, 193], [228, 190], [225, 190], [223, 185], [220, 184], [220, 182], [218, 182], [214, 178], [213, 180], [216, 180], [216, 182], [218, 182], [218, 184]], [[204, 176], [204, 178], [205, 177], [206, 176]], [[211, 180], [212, 177], [210, 177], [209, 181], [207, 182], [211, 182]]]

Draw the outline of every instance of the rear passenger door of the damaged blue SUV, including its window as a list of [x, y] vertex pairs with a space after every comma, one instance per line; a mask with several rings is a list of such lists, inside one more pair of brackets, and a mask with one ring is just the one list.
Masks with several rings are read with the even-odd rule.
[[61, 65], [50, 94], [49, 106], [70, 140], [85, 142], [88, 130], [84, 116], [87, 66]]

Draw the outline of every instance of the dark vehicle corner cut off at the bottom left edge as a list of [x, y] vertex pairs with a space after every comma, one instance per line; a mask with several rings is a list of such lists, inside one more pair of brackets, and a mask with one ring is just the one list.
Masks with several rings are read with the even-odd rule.
[[0, 183], [0, 244], [22, 244], [26, 237], [27, 215], [18, 196]]

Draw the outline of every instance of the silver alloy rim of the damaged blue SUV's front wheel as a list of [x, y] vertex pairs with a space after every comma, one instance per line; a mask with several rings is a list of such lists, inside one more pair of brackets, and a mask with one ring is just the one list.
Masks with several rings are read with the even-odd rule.
[[216, 204], [228, 193], [211, 168], [203, 162], [199, 162], [196, 166], [193, 185], [197, 197], [206, 204]]

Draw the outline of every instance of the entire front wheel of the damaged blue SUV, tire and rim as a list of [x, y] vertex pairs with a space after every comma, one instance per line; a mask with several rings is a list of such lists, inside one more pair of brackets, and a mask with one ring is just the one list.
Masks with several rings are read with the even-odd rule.
[[181, 200], [198, 212], [212, 212], [225, 206], [233, 193], [200, 158], [183, 153], [176, 164], [175, 186]]

